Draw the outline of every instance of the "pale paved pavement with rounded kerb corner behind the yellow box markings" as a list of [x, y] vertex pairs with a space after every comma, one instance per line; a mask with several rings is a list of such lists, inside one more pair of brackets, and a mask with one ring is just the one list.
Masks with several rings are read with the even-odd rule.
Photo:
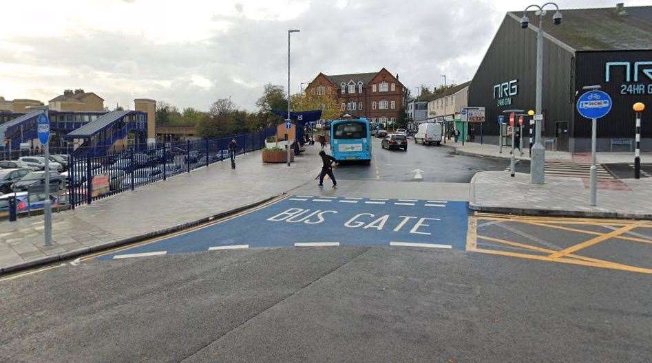
[[652, 219], [652, 178], [598, 179], [597, 206], [589, 205], [586, 178], [546, 177], [532, 184], [529, 174], [477, 173], [470, 185], [469, 208], [483, 212], [576, 217]]

